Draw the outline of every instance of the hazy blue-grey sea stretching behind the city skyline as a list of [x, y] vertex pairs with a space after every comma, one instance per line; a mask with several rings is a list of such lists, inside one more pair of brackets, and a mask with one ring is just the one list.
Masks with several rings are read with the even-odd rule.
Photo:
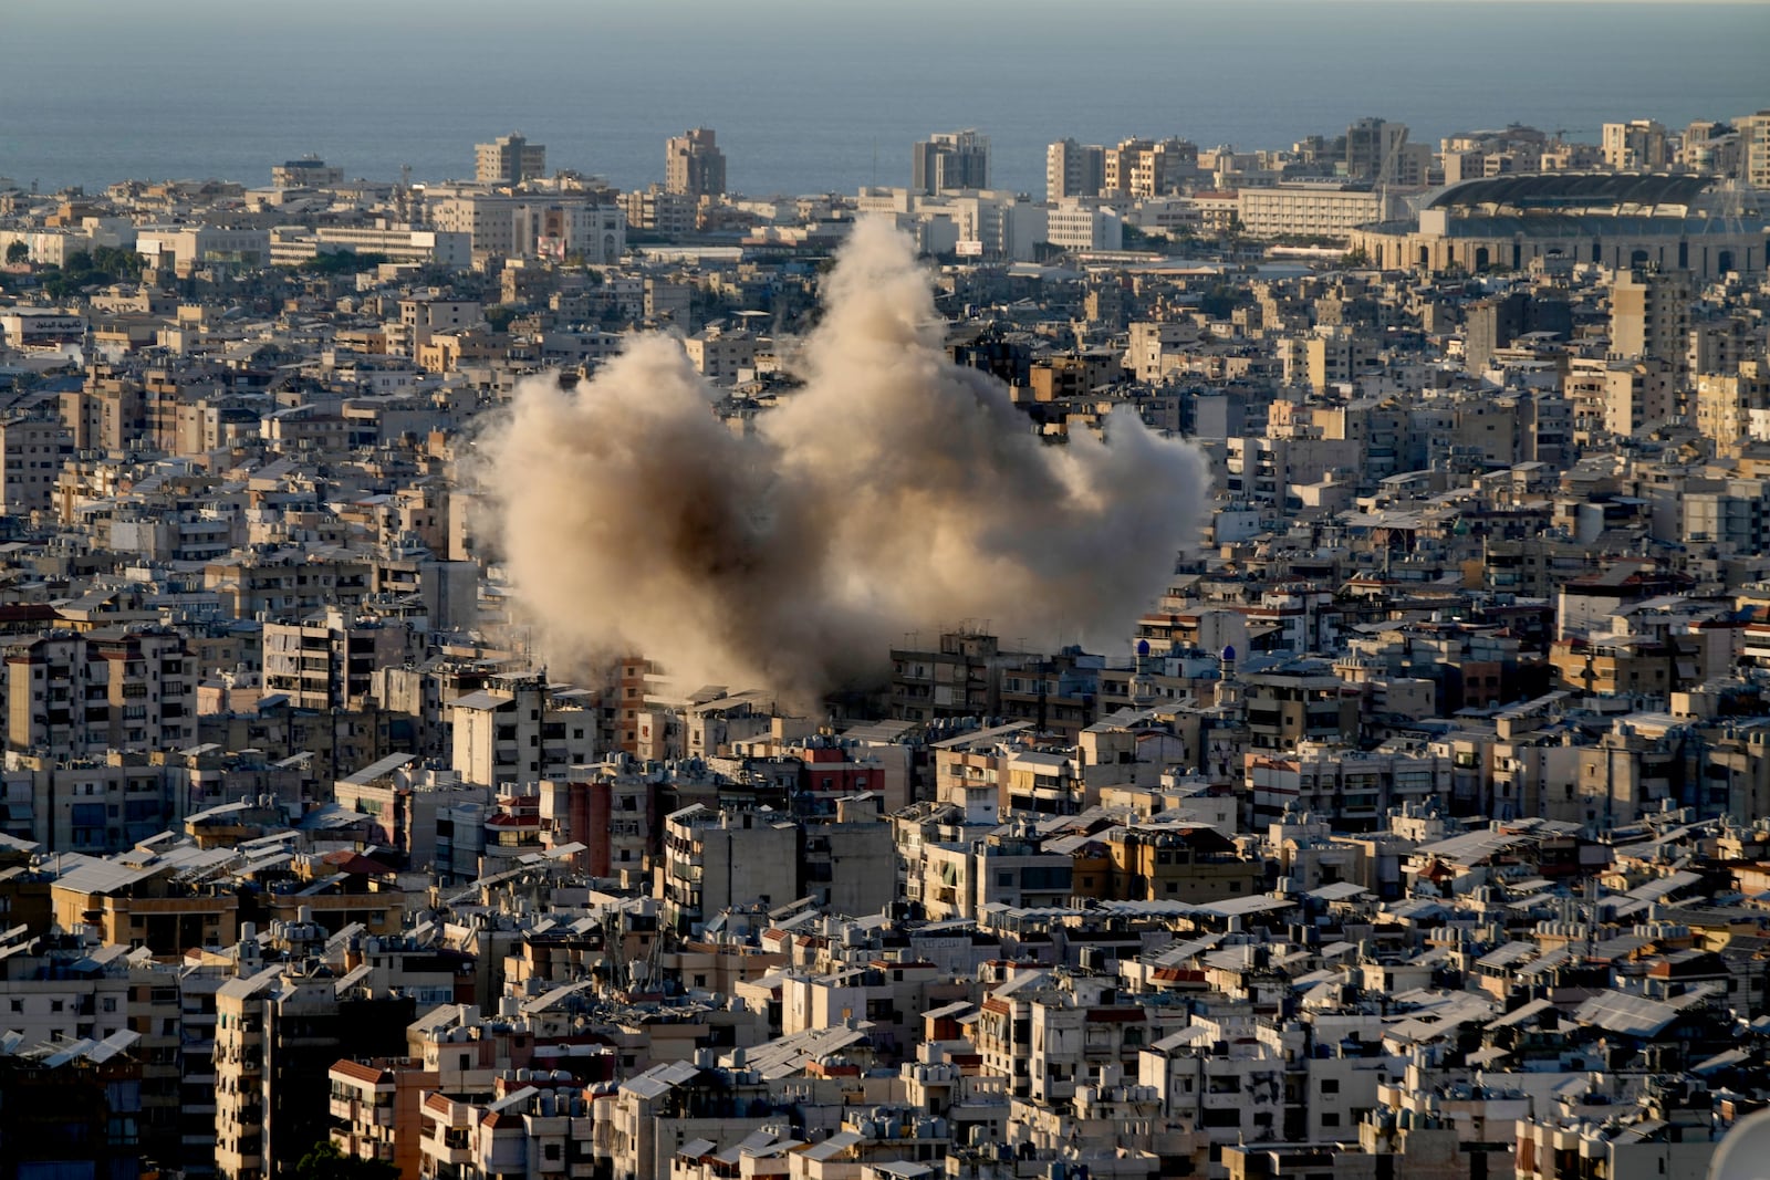
[[1770, 4], [1535, 0], [4, 0], [0, 177], [269, 182], [308, 154], [372, 180], [471, 179], [520, 131], [550, 170], [664, 179], [713, 127], [750, 195], [906, 184], [975, 127], [993, 186], [1044, 145], [1289, 147], [1366, 117], [1414, 142], [1770, 108]]

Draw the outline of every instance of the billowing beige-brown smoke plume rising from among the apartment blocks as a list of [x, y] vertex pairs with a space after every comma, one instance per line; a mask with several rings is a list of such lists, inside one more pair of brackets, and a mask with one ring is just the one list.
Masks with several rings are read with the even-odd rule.
[[545, 656], [643, 653], [809, 702], [966, 619], [1004, 646], [1120, 649], [1197, 538], [1198, 453], [1127, 409], [1104, 441], [1041, 442], [998, 380], [947, 359], [889, 223], [855, 226], [823, 303], [804, 387], [747, 435], [664, 336], [575, 391], [517, 389], [478, 474]]

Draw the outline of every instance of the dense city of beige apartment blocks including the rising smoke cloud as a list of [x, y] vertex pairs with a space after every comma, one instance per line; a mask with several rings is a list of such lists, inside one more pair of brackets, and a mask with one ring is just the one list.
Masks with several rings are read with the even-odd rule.
[[0, 1180], [1710, 1175], [1715, 115], [0, 177]]

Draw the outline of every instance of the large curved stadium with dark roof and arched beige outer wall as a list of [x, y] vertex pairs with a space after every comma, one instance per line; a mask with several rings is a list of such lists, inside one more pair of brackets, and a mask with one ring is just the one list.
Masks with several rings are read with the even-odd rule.
[[1430, 195], [1414, 218], [1363, 225], [1352, 248], [1379, 267], [1508, 271], [1535, 260], [1657, 265], [1712, 280], [1765, 269], [1765, 193], [1715, 177], [1542, 172]]

